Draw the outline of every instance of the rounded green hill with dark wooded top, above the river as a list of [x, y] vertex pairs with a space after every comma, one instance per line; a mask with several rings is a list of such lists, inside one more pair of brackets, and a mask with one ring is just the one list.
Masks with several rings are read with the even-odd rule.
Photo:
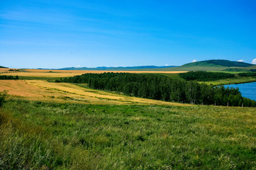
[[191, 62], [179, 67], [151, 69], [151, 71], [226, 71], [226, 72], [253, 72], [254, 64], [235, 62], [230, 60], [205, 60]]

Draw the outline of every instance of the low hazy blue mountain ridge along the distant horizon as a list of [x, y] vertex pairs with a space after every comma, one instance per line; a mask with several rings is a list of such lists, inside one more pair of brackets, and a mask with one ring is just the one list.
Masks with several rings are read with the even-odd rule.
[[60, 70], [106, 70], [106, 71], [124, 71], [124, 70], [137, 70], [137, 69], [161, 69], [176, 66], [135, 66], [135, 67], [66, 67]]

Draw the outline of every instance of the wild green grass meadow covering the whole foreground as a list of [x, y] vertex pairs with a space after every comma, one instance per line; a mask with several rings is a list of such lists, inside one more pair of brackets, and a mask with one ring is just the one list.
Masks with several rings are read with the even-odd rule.
[[0, 169], [256, 169], [255, 108], [9, 100]]

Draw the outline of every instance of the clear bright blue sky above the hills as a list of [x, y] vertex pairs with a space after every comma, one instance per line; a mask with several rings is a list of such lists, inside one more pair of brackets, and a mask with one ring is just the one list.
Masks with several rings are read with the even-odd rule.
[[[0, 65], [181, 65], [256, 58], [256, 1], [0, 1]], [[255, 61], [256, 64], [256, 61]]]

